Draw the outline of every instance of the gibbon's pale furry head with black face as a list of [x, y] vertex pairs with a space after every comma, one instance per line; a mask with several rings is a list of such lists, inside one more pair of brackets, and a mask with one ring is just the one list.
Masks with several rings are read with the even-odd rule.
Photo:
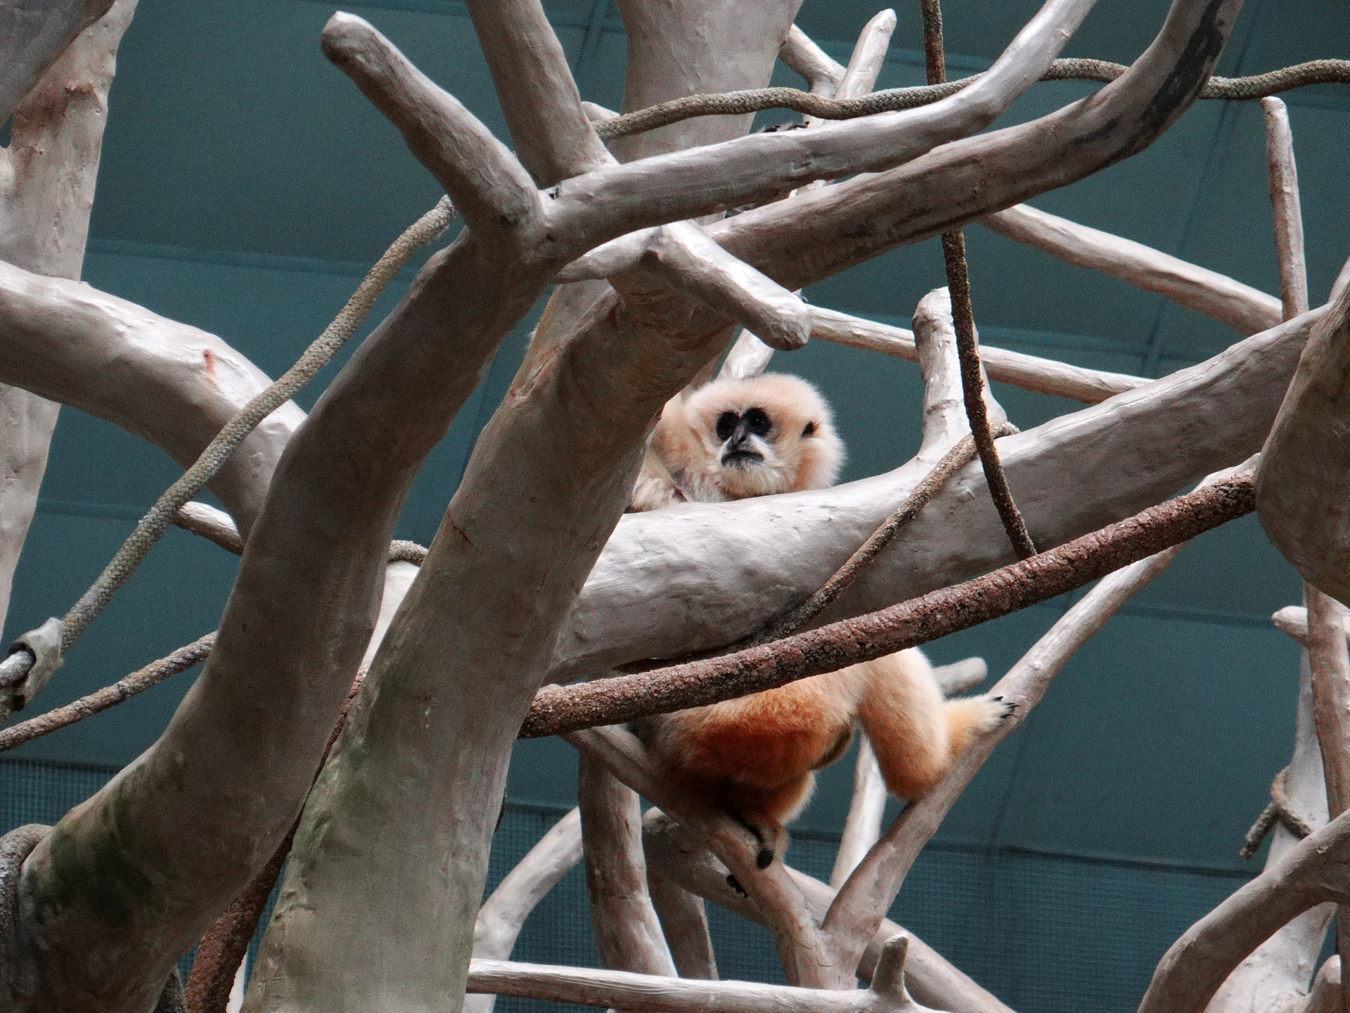
[[688, 397], [684, 417], [705, 455], [690, 478], [711, 486], [695, 490], [701, 500], [824, 489], [844, 461], [829, 405], [799, 377], [720, 380]]

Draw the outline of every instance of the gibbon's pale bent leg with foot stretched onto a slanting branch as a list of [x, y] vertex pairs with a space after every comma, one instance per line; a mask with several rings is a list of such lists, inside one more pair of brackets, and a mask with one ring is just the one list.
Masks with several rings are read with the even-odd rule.
[[918, 650], [856, 667], [869, 673], [859, 723], [898, 798], [923, 794], [972, 737], [1008, 715], [1002, 701], [990, 697], [944, 700], [933, 666]]

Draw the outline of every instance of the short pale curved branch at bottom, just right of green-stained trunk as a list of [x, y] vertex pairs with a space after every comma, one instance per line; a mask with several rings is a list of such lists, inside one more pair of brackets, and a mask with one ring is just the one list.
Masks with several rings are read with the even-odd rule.
[[[509, 959], [525, 918], [580, 860], [582, 817], [580, 809], [572, 809], [548, 828], [478, 909], [474, 958]], [[495, 995], [467, 995], [464, 1013], [493, 1013], [495, 1001]]]

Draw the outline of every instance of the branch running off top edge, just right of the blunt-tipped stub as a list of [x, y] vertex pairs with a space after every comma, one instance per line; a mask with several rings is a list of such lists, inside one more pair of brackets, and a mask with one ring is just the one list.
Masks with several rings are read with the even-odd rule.
[[539, 186], [613, 163], [539, 0], [470, 0], [516, 157]]

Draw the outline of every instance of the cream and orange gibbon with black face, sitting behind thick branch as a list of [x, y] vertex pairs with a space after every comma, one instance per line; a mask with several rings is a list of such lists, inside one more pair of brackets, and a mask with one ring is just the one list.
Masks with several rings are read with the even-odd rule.
[[[805, 380], [720, 380], [666, 405], [629, 509], [821, 489], [842, 459], [830, 409]], [[783, 824], [810, 800], [813, 771], [844, 755], [855, 724], [886, 786], [913, 800], [1008, 713], [987, 696], [944, 700], [933, 666], [911, 648], [632, 728], [664, 777], [749, 828], [764, 868], [786, 848]]]

